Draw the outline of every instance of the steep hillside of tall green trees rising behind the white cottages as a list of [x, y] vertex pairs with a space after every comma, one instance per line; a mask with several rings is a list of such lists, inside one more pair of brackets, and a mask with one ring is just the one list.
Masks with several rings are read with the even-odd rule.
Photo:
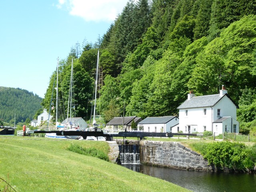
[[217, 94], [223, 84], [246, 132], [256, 130], [255, 45], [256, 0], [129, 0], [100, 45], [85, 41], [80, 52], [76, 44], [60, 73], [68, 79], [64, 69], [74, 58], [77, 112], [88, 118], [100, 49], [97, 110], [106, 122], [123, 109], [142, 118], [175, 115], [189, 90]]

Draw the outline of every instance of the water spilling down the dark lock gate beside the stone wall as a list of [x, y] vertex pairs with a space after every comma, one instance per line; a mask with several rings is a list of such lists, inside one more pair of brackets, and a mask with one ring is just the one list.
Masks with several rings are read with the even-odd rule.
[[140, 145], [119, 145], [121, 164], [140, 164]]

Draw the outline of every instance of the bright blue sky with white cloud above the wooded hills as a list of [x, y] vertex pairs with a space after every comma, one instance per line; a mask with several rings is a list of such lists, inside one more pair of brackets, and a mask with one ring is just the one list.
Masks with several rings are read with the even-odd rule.
[[102, 37], [128, 0], [0, 0], [0, 86], [44, 98], [57, 58]]

